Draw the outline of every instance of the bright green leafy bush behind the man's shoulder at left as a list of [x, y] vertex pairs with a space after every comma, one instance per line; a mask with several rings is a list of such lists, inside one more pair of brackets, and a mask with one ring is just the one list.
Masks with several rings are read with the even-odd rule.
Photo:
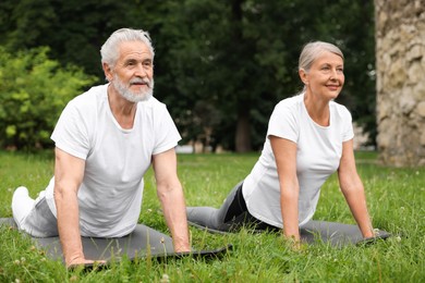
[[0, 146], [34, 149], [50, 134], [66, 102], [94, 82], [76, 66], [61, 66], [48, 48], [8, 53], [0, 48]]

